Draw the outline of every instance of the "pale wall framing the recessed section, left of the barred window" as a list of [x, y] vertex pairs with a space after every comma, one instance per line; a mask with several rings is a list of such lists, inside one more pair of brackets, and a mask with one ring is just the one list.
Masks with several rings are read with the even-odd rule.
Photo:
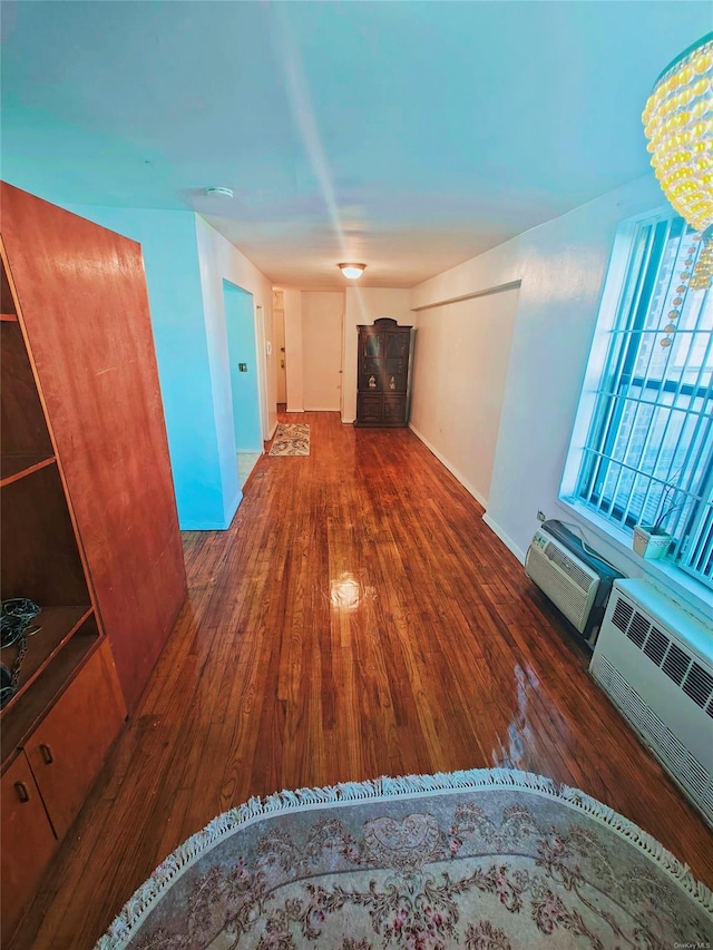
[[[411, 305], [423, 307], [521, 281], [486, 515], [520, 560], [538, 510], [575, 520], [557, 496], [616, 227], [662, 204], [658, 184], [647, 175], [412, 291]], [[417, 324], [430, 323], [427, 314]], [[430, 354], [417, 340], [413, 405], [422, 407], [428, 396], [422, 366]], [[455, 444], [463, 419], [443, 414], [441, 424], [443, 444]], [[588, 523], [582, 523], [586, 533]], [[621, 550], [598, 540], [596, 548], [622, 562]], [[626, 572], [633, 572], [629, 564]]]

